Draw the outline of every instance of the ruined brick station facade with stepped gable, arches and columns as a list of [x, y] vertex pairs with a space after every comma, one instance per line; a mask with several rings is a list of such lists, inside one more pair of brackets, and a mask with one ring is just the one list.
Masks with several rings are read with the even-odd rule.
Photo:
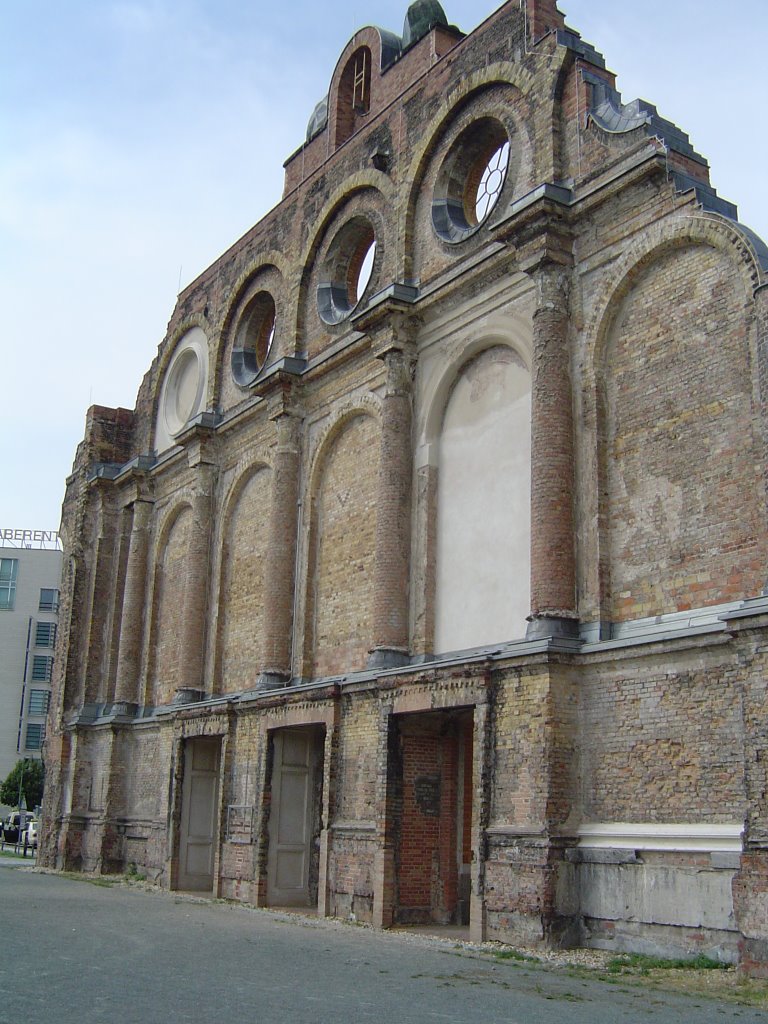
[[426, 6], [88, 413], [42, 862], [764, 974], [768, 250], [554, 2]]

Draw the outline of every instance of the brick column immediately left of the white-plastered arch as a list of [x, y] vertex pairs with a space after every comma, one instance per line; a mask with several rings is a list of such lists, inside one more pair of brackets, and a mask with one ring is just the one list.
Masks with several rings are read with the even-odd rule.
[[409, 662], [409, 564], [413, 451], [410, 349], [393, 343], [379, 353], [386, 367], [376, 511], [373, 668]]

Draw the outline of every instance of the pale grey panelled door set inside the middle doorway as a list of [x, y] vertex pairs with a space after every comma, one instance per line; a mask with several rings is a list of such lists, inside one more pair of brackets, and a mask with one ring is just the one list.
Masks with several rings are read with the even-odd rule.
[[274, 733], [267, 864], [267, 900], [272, 906], [309, 904], [316, 741], [311, 729], [281, 729]]

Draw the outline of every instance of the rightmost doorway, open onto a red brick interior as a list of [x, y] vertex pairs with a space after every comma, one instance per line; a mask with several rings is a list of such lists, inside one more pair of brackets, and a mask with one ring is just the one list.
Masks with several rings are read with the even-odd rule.
[[397, 718], [397, 924], [469, 924], [472, 728], [471, 710]]

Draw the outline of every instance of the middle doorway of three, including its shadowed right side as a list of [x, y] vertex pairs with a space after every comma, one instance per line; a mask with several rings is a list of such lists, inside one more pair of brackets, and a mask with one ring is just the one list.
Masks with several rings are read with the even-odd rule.
[[269, 906], [316, 906], [325, 729], [271, 733], [266, 895]]

